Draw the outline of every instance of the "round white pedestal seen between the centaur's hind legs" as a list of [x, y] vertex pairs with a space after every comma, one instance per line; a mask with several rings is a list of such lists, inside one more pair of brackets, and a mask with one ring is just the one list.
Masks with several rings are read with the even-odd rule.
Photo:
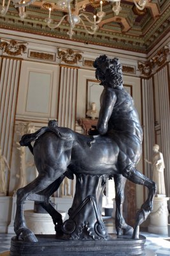
[[[66, 217], [66, 212], [59, 211], [62, 215], [62, 220]], [[55, 234], [52, 217], [48, 213], [37, 213], [32, 210], [24, 211], [27, 227], [34, 234]]]

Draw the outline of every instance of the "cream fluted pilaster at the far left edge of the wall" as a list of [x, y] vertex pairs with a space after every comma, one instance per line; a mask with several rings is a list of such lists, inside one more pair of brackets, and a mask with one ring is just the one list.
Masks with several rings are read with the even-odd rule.
[[0, 141], [3, 155], [6, 157], [8, 163], [10, 163], [11, 159], [20, 65], [20, 60], [2, 58], [1, 61]]

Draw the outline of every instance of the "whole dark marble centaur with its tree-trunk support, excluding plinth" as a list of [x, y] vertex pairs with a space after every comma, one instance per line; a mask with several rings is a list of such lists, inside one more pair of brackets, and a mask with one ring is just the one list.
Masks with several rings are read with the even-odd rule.
[[[155, 182], [136, 169], [141, 156], [142, 129], [132, 97], [124, 90], [122, 66], [117, 58], [106, 55], [94, 61], [96, 78], [104, 86], [97, 127], [89, 136], [58, 127], [55, 120], [33, 134], [25, 134], [20, 145], [34, 154], [38, 177], [17, 191], [15, 233], [27, 242], [38, 239], [24, 219], [25, 200], [38, 201], [52, 216], [57, 237], [71, 240], [110, 239], [101, 218], [101, 204], [106, 179], [115, 180], [117, 235], [139, 238], [139, 225], [152, 210]], [[31, 142], [35, 141], [34, 147]], [[64, 177], [76, 176], [76, 192], [69, 209], [69, 219], [62, 223], [59, 212], [49, 201]], [[122, 214], [125, 181], [148, 188], [148, 198], [136, 214], [134, 229]], [[122, 254], [123, 255], [123, 254]]]

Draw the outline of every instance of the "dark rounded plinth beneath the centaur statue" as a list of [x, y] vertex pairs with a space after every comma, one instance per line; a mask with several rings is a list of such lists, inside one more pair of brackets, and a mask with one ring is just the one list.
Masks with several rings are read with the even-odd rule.
[[134, 256], [145, 255], [144, 236], [139, 239], [117, 237], [109, 240], [64, 240], [55, 235], [38, 235], [38, 243], [11, 238], [10, 256]]

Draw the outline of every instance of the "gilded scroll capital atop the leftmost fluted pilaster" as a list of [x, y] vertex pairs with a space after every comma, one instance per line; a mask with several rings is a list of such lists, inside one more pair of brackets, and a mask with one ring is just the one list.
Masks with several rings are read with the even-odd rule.
[[27, 47], [25, 46], [25, 44], [27, 43], [17, 42], [15, 40], [10, 40], [10, 42], [1, 40], [0, 49], [10, 56], [18, 56], [22, 55], [22, 53], [26, 51]]

